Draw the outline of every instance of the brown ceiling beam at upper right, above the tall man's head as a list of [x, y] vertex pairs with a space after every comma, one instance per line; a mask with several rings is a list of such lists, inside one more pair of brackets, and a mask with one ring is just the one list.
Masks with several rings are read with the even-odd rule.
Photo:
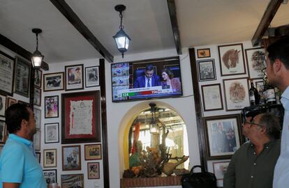
[[268, 29], [269, 25], [272, 22], [272, 19], [276, 15], [277, 10], [281, 6], [283, 0], [271, 0], [265, 10], [264, 15], [254, 33], [254, 36], [251, 40], [253, 47], [258, 46], [264, 36], [265, 31]]

